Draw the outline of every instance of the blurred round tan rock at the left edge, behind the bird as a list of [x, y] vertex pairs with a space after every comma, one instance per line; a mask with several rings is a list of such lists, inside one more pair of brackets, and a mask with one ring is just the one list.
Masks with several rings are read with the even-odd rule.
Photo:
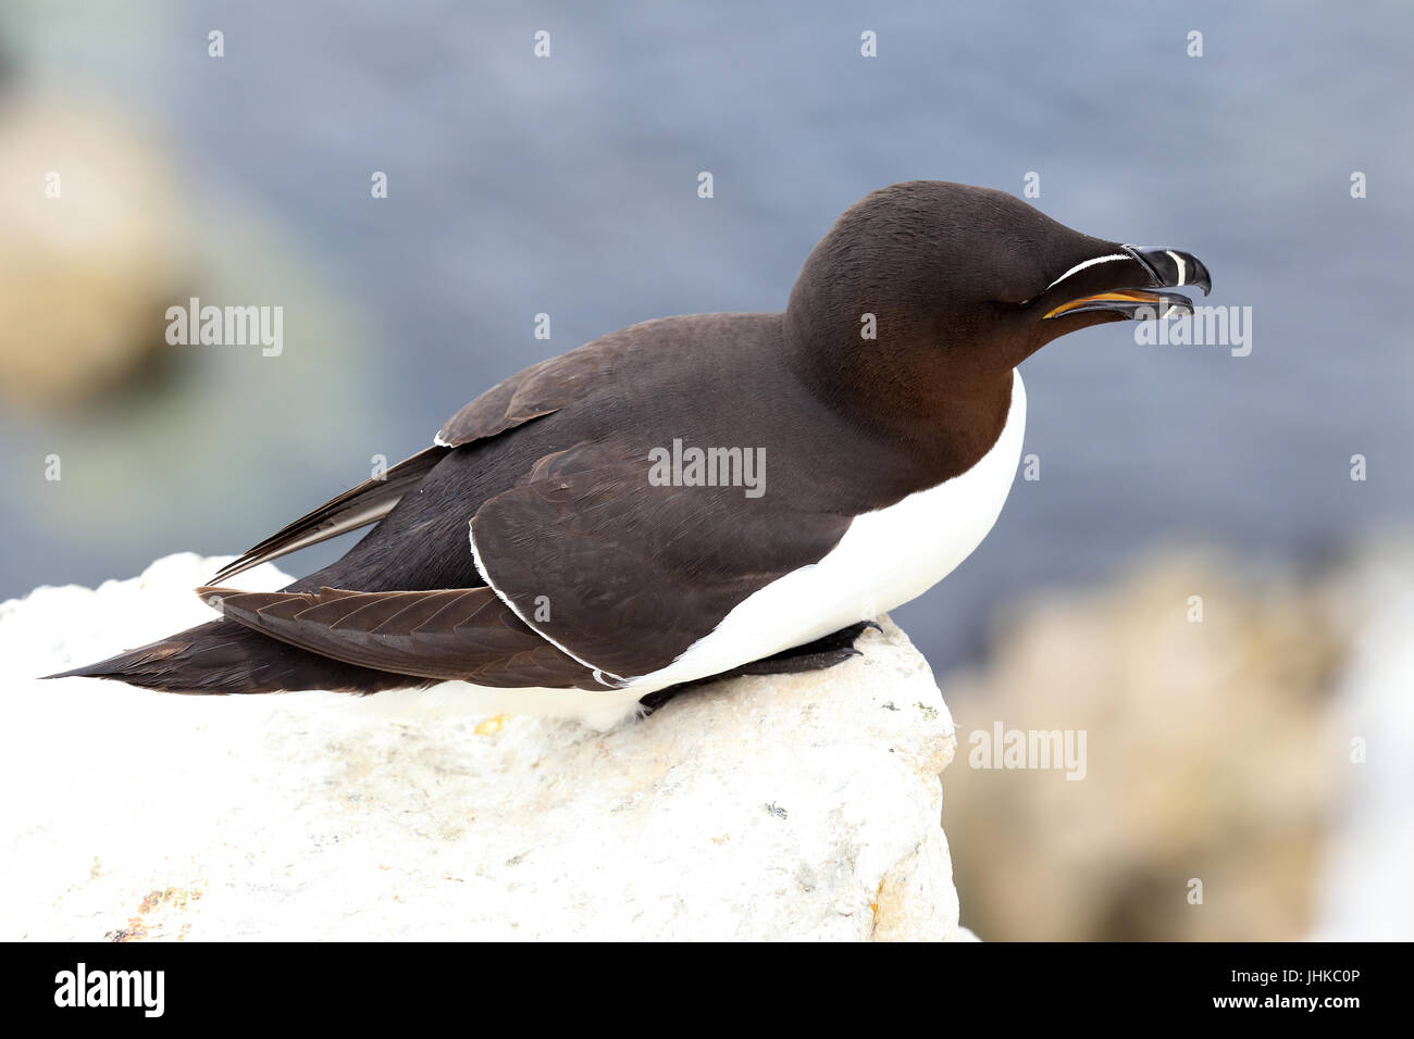
[[112, 112], [0, 103], [0, 394], [41, 409], [164, 346], [185, 229], [171, 160]]

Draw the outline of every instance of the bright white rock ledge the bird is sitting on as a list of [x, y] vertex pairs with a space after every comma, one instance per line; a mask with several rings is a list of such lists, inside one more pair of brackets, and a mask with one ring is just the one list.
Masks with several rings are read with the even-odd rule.
[[953, 724], [888, 621], [836, 669], [608, 734], [34, 680], [205, 619], [191, 588], [223, 561], [0, 605], [0, 939], [970, 937], [939, 826]]

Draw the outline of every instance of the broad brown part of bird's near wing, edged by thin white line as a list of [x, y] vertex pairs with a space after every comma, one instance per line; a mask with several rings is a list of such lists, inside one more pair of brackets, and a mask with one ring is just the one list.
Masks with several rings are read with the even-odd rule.
[[752, 592], [817, 563], [851, 520], [741, 486], [662, 486], [650, 468], [626, 441], [577, 444], [471, 520], [492, 588], [609, 680], [667, 666]]

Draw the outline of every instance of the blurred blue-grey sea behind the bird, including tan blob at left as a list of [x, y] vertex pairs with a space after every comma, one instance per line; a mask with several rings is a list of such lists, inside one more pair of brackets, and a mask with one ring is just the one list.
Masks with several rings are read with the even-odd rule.
[[[874, 188], [1029, 171], [1051, 216], [1202, 257], [1253, 349], [1107, 325], [1028, 360], [1041, 479], [896, 619], [942, 674], [1018, 595], [1157, 546], [1324, 565], [1414, 506], [1411, 51], [1397, 3], [10, 0], [0, 598], [238, 553], [542, 358], [781, 310]], [[40, 242], [44, 205], [76, 245]], [[188, 295], [281, 305], [284, 352], [165, 346]]]

